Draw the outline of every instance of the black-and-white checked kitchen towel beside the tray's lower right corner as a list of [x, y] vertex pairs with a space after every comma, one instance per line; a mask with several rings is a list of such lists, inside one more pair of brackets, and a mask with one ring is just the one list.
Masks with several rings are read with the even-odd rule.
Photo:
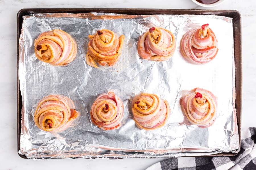
[[[255, 147], [254, 147], [255, 146]], [[242, 133], [241, 150], [231, 157], [180, 157], [153, 164], [146, 170], [256, 170], [256, 128]]]

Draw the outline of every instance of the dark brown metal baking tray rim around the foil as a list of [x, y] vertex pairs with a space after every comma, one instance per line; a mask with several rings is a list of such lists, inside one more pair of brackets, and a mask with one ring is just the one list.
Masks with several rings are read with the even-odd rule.
[[[233, 36], [234, 36], [234, 57], [235, 57], [235, 87], [236, 87], [236, 104], [239, 143], [241, 147], [241, 99], [242, 99], [242, 50], [241, 50], [241, 15], [236, 10], [189, 10], [189, 9], [108, 9], [108, 8], [34, 8], [21, 9], [17, 13], [17, 139], [18, 150], [20, 150], [20, 132], [21, 132], [21, 109], [22, 96], [20, 93], [18, 78], [18, 59], [19, 59], [19, 37], [22, 28], [23, 16], [34, 13], [117, 13], [129, 15], [150, 15], [150, 14], [189, 14], [189, 15], [219, 15], [233, 18]], [[18, 153], [19, 154], [19, 153]], [[207, 156], [235, 156], [236, 153], [221, 153]], [[25, 155], [19, 154], [22, 158]]]

